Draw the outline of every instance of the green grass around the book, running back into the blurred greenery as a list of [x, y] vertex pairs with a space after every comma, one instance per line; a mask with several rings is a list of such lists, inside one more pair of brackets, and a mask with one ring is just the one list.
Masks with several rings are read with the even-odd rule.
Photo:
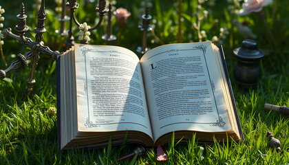
[[[183, 0], [183, 3], [183, 42], [197, 41], [197, 33], [191, 28], [191, 23], [196, 20], [192, 14], [195, 12], [196, 2]], [[3, 14], [6, 16], [5, 27], [14, 28], [16, 25], [15, 15], [18, 14], [18, 10], [9, 10], [8, 8], [19, 8], [19, 5], [19, 1], [2, 5], [6, 9], [6, 14]], [[30, 12], [32, 8], [30, 5], [25, 4], [25, 8], [28, 9], [26, 14], [29, 16], [28, 25], [31, 25], [30, 31], [32, 31], [35, 21], [31, 21], [31, 19], [34, 18], [35, 12]], [[226, 1], [221, 1], [220, 5], [217, 5], [213, 10], [214, 14], [210, 15], [202, 24], [208, 36], [212, 37], [218, 34], [220, 27], [227, 27], [228, 29], [232, 27], [227, 12], [216, 12], [226, 10], [226, 5]], [[136, 50], [136, 47], [141, 45], [142, 37], [137, 27], [140, 22], [140, 13], [138, 13], [138, 9], [141, 7], [140, 1], [134, 1], [133, 5], [129, 1], [118, 1], [117, 6], [128, 8], [132, 12], [132, 16], [129, 17], [125, 30], [122, 32], [120, 45], [130, 50]], [[231, 35], [233, 37], [228, 37], [223, 43], [244, 133], [244, 143], [223, 144], [214, 142], [211, 145], [201, 145], [195, 141], [195, 137], [192, 135], [192, 139], [188, 140], [186, 144], [174, 143], [172, 140], [170, 144], [164, 146], [164, 152], [169, 155], [167, 162], [156, 160], [156, 148], [147, 148], [146, 154], [142, 157], [133, 157], [116, 162], [116, 159], [133, 151], [135, 146], [126, 144], [122, 144], [122, 146], [109, 145], [107, 148], [90, 151], [77, 149], [67, 153], [58, 151], [56, 115], [48, 113], [50, 107], [56, 107], [55, 62], [47, 56], [41, 56], [35, 73], [36, 85], [34, 85], [32, 98], [24, 95], [30, 67], [14, 70], [8, 74], [8, 78], [0, 80], [0, 164], [288, 164], [289, 119], [287, 116], [263, 110], [265, 102], [289, 107], [288, 6], [288, 1], [278, 1], [278, 10], [275, 16], [270, 15], [273, 10], [272, 5], [266, 8], [266, 19], [276, 36], [278, 48], [270, 46], [266, 32], [258, 24], [257, 17], [252, 15], [251, 17], [237, 17], [239, 21], [248, 23], [253, 32], [258, 35], [259, 47], [268, 54], [261, 61], [263, 76], [259, 79], [257, 87], [242, 89], [233, 79], [236, 59], [232, 50], [242, 43], [242, 38], [236, 28], [232, 29]], [[94, 10], [94, 4], [87, 4], [86, 7], [89, 10]], [[206, 5], [204, 7], [206, 8]], [[47, 10], [50, 14], [47, 14], [47, 22], [45, 23], [50, 28], [47, 28], [48, 32], [44, 34], [44, 41], [53, 47], [52, 50], [60, 50], [59, 45], [63, 43], [64, 39], [59, 39], [59, 36], [54, 34], [54, 30], [58, 28], [54, 18], [54, 5], [52, 3], [47, 4]], [[88, 14], [88, 17], [83, 10], [83, 8], [78, 9], [77, 17], [93, 25], [96, 20], [89, 18], [92, 18], [94, 14]], [[154, 23], [156, 25], [155, 33], [164, 43], [176, 42], [178, 18], [175, 17], [175, 13], [176, 10], [174, 10], [171, 1], [153, 1], [151, 15], [153, 19], [156, 19], [156, 23]], [[212, 27], [212, 21], [215, 19], [219, 19], [219, 25]], [[275, 21], [272, 22], [272, 20]], [[117, 29], [118, 26], [114, 21], [114, 34], [116, 34]], [[77, 32], [77, 28], [74, 28], [74, 31]], [[135, 37], [128, 37], [130, 32], [134, 32]], [[103, 29], [99, 28], [92, 35], [91, 43], [102, 45], [104, 43], [100, 39], [102, 34]], [[192, 34], [191, 37], [188, 34]], [[33, 39], [33, 32], [28, 32], [27, 36]], [[148, 41], [152, 39], [154, 39], [153, 36], [149, 36]], [[208, 39], [210, 38], [208, 37]], [[160, 43], [149, 42], [148, 45], [149, 47], [156, 47]], [[13, 39], [5, 39], [3, 49], [8, 64], [16, 60], [10, 54], [27, 52], [25, 47]], [[0, 69], [4, 68], [6, 67], [1, 62]], [[268, 147], [267, 131], [271, 131], [281, 141], [280, 153]]]

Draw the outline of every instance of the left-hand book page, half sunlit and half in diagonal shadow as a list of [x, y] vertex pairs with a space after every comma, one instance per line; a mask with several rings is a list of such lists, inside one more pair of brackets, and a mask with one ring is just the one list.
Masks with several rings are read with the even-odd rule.
[[122, 47], [75, 45], [78, 131], [152, 137], [138, 56]]

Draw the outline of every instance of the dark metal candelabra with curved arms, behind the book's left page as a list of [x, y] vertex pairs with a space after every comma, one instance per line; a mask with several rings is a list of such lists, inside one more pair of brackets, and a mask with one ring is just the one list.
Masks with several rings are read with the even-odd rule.
[[[96, 8], [96, 12], [99, 13], [99, 21], [98, 23], [93, 27], [90, 28], [89, 31], [95, 30], [100, 26], [100, 23], [103, 21], [103, 16], [105, 15], [105, 12], [108, 12], [108, 9], [105, 8], [105, 0], [100, 0], [98, 3], [98, 8]], [[72, 47], [74, 45], [74, 36], [72, 32], [72, 21], [76, 23], [77, 26], [81, 25], [78, 23], [75, 17], [75, 10], [78, 8], [79, 4], [76, 2], [76, 0], [69, 0], [69, 2], [66, 3], [66, 7], [70, 9], [70, 21], [69, 21], [69, 32], [67, 39], [65, 41], [65, 44], [67, 47]], [[86, 42], [87, 43], [87, 42]]]

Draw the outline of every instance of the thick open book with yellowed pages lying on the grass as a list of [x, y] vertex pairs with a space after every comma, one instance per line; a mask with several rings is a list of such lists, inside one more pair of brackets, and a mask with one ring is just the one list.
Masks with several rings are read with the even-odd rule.
[[57, 59], [61, 149], [129, 143], [153, 146], [213, 137], [242, 140], [222, 47], [210, 41], [156, 47], [76, 44]]

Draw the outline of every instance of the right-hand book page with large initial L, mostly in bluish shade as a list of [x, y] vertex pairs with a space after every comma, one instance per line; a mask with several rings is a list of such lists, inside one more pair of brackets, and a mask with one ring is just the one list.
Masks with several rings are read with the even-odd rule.
[[154, 140], [171, 131], [231, 131], [211, 42], [157, 47], [140, 60]]

